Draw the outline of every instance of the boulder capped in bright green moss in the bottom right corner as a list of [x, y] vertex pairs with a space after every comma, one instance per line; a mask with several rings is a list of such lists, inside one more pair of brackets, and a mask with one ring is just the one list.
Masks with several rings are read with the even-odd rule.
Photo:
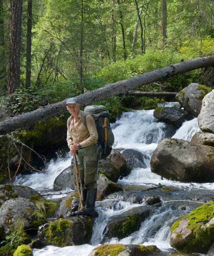
[[171, 226], [170, 245], [187, 253], [206, 254], [214, 242], [214, 205], [204, 204]]

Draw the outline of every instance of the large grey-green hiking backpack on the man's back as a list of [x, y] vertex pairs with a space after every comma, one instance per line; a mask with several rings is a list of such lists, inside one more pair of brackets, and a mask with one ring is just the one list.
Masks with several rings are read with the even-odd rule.
[[[109, 122], [109, 112], [107, 108], [103, 105], [93, 105], [86, 106], [84, 109], [83, 115], [83, 123], [86, 126], [86, 116], [91, 114], [95, 120], [97, 133], [98, 133], [98, 143], [102, 148], [102, 152], [100, 155], [101, 159], [106, 159], [108, 155], [110, 155], [112, 150], [112, 145], [114, 144], [114, 134], [110, 127]], [[106, 118], [106, 126], [105, 126], [105, 118]], [[106, 134], [105, 134], [106, 130]], [[107, 137], [105, 137], [107, 135]]]

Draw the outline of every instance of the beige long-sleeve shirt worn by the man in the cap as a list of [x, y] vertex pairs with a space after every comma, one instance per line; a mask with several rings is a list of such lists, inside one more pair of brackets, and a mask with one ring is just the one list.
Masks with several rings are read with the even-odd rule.
[[72, 115], [67, 120], [67, 142], [70, 149], [72, 143], [80, 144], [82, 148], [97, 143], [98, 133], [94, 118], [91, 115], [86, 116], [86, 127], [82, 121], [83, 114], [79, 110], [75, 123]]

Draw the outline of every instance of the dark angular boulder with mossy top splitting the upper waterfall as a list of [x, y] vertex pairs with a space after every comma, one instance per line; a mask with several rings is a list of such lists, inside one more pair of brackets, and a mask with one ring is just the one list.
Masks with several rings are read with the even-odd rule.
[[153, 116], [160, 121], [180, 127], [187, 120], [193, 119], [193, 116], [184, 109], [177, 107], [157, 107]]

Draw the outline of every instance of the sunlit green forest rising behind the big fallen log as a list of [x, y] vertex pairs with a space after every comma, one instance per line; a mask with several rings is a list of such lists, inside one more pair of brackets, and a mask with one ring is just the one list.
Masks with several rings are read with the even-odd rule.
[[[212, 3], [0, 0], [1, 96], [16, 92], [54, 103], [84, 88], [212, 55]], [[178, 91], [201, 82], [199, 72], [149, 89]]]

